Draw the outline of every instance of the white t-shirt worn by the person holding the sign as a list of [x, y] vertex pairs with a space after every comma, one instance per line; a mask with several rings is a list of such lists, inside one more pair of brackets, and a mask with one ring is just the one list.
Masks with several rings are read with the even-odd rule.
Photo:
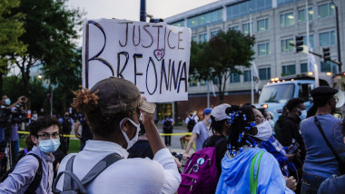
[[[174, 193], [181, 182], [173, 156], [168, 149], [157, 151], [153, 160], [148, 158], [127, 159], [128, 152], [120, 145], [110, 141], [86, 141], [84, 150], [74, 158], [73, 172], [79, 178], [94, 168], [98, 161], [111, 153], [118, 153], [123, 160], [118, 160], [104, 170], [86, 188], [88, 193]], [[62, 160], [58, 172], [65, 169], [67, 161], [74, 154]], [[62, 190], [64, 175], [56, 188]]]

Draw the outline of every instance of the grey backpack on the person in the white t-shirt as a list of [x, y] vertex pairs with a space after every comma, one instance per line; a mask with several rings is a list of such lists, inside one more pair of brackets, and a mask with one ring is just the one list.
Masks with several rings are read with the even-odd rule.
[[[75, 155], [72, 156], [66, 164], [65, 170], [59, 172], [56, 179], [54, 180], [53, 184], [53, 192], [54, 193], [62, 193], [62, 194], [77, 194], [77, 193], [87, 193], [86, 187], [99, 175], [101, 174], [106, 168], [112, 165], [117, 160], [121, 160], [122, 158], [117, 153], [112, 153], [106, 156], [103, 160], [100, 160], [94, 168], [90, 170], [85, 177], [80, 180], [78, 179], [75, 174], [73, 173], [73, 162], [74, 162]], [[56, 189], [56, 184], [64, 174], [64, 187], [63, 190]]]

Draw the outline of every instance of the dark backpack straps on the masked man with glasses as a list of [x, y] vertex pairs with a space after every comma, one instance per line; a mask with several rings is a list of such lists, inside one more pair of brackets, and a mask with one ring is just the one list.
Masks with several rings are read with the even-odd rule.
[[[42, 170], [42, 160], [40, 159], [40, 157], [38, 157], [34, 153], [28, 153], [27, 155], [34, 156], [34, 158], [36, 158], [39, 161], [38, 162], [39, 163], [38, 170], [34, 174], [34, 179], [30, 183], [29, 187], [25, 190], [25, 194], [26, 193], [30, 194], [30, 193], [36, 193], [36, 189], [40, 186], [40, 183], [42, 181], [42, 172], [43, 172], [43, 170]], [[5, 174], [1, 177], [0, 181], [3, 182], [5, 179], [7, 179], [8, 175], [10, 173], [12, 173], [14, 170], [15, 170], [15, 166], [12, 167], [10, 170], [6, 171]]]

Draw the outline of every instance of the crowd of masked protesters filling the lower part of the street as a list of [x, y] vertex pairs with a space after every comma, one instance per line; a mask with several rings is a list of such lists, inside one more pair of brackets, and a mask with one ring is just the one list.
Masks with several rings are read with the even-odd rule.
[[[345, 127], [332, 116], [336, 92], [314, 89], [316, 111], [308, 116], [303, 101], [291, 99], [276, 123], [271, 112], [251, 104], [205, 108], [200, 121], [191, 112], [184, 122], [192, 136], [182, 158], [191, 157], [195, 143], [195, 154], [214, 148], [215, 162], [201, 155], [181, 172], [166, 148], [171, 139], [164, 143], [154, 123], [155, 104], [132, 82], [110, 77], [75, 92], [72, 106], [84, 114], [74, 123], [81, 151], [66, 155], [68, 139], [61, 134], [72, 131], [68, 112], [60, 121], [37, 117], [28, 126], [28, 149], [2, 179], [0, 193], [342, 193]], [[167, 115], [163, 132], [172, 133], [173, 123]], [[54, 154], [58, 150], [63, 157]], [[214, 165], [214, 176], [202, 182], [197, 174], [206, 165]]]

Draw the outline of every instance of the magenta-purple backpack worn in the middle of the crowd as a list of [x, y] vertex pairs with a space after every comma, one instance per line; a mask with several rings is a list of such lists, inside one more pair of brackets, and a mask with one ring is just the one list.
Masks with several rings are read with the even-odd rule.
[[214, 147], [196, 151], [186, 161], [186, 166], [181, 173], [182, 181], [178, 189], [179, 194], [215, 192], [218, 183], [216, 147], [223, 140], [218, 140]]

